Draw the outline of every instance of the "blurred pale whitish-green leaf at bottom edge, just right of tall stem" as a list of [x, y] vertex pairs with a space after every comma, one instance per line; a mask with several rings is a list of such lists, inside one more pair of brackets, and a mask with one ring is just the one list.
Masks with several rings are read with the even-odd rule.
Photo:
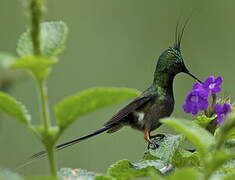
[[98, 173], [90, 172], [83, 169], [62, 168], [58, 172], [58, 176], [62, 179], [80, 179], [80, 180], [94, 180]]

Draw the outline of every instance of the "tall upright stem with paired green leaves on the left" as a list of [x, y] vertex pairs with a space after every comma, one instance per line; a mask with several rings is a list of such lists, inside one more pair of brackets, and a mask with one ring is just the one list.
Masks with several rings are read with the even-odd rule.
[[11, 53], [0, 54], [1, 69], [20, 69], [34, 77], [40, 98], [42, 125], [34, 125], [33, 122], [31, 124], [30, 115], [23, 104], [3, 92], [0, 92], [0, 110], [23, 123], [39, 137], [48, 154], [51, 175], [56, 177], [54, 146], [65, 128], [83, 115], [135, 98], [140, 92], [135, 89], [109, 87], [84, 90], [65, 98], [55, 106], [57, 124], [51, 126], [47, 77], [52, 71], [52, 65], [58, 61], [57, 56], [64, 50], [68, 28], [62, 21], [40, 23], [43, 6], [43, 0], [29, 1], [31, 25], [18, 40], [16, 51], [19, 57]]

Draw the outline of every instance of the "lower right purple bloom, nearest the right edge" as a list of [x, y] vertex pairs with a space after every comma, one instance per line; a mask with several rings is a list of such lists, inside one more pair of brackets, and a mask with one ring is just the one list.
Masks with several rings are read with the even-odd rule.
[[217, 114], [216, 123], [221, 125], [224, 123], [227, 114], [231, 111], [231, 106], [225, 103], [224, 105], [216, 104], [214, 107], [215, 113]]

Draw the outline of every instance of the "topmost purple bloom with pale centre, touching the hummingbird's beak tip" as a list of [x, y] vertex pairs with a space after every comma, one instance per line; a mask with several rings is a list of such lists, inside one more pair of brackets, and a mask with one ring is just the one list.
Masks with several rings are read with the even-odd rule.
[[214, 76], [208, 77], [204, 83], [203, 87], [212, 92], [212, 94], [219, 93], [221, 91], [220, 85], [222, 84], [223, 79], [221, 76], [215, 78]]

